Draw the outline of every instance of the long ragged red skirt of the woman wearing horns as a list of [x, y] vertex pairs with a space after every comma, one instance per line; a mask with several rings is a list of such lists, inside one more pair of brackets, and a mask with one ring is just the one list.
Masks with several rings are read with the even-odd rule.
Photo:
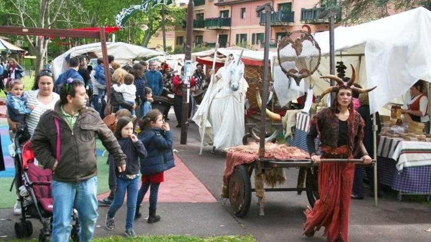
[[[347, 146], [336, 149], [322, 146], [323, 158], [353, 158]], [[349, 241], [349, 209], [352, 193], [354, 163], [320, 163], [318, 172], [320, 199], [314, 208], [307, 208], [304, 233], [313, 233], [325, 227], [329, 242]]]

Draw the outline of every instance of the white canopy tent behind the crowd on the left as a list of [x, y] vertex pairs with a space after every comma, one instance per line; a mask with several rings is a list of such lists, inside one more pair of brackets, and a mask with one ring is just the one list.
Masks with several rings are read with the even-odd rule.
[[[125, 65], [138, 57], [150, 57], [164, 55], [164, 52], [152, 50], [139, 45], [126, 44], [122, 42], [106, 43], [108, 55], [115, 56], [115, 61], [120, 65]], [[57, 78], [61, 72], [68, 68], [67, 60], [71, 57], [82, 55], [85, 53], [94, 53], [97, 57], [102, 57], [102, 47], [100, 43], [84, 44], [76, 46], [66, 51], [60, 56], [57, 56], [52, 62], [54, 78]]]

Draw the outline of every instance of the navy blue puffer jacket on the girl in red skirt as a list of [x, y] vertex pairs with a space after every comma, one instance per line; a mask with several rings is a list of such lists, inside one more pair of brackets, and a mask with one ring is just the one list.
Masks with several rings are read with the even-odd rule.
[[149, 176], [175, 166], [172, 153], [172, 132], [145, 129], [138, 136], [145, 146], [147, 156], [141, 158], [141, 174]]

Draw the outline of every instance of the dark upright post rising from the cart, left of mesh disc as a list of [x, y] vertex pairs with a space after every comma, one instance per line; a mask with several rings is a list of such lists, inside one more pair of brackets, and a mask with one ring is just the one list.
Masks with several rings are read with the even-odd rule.
[[[262, 107], [261, 107], [261, 135], [259, 139], [259, 160], [265, 158], [265, 128], [266, 128], [266, 103], [268, 99], [268, 61], [269, 61], [269, 38], [271, 34], [271, 3], [267, 2], [256, 8], [256, 12], [265, 10], [265, 48], [263, 50], [263, 90], [262, 90]], [[256, 174], [261, 174], [262, 165], [258, 162]], [[259, 215], [263, 216], [263, 198], [259, 198]]]

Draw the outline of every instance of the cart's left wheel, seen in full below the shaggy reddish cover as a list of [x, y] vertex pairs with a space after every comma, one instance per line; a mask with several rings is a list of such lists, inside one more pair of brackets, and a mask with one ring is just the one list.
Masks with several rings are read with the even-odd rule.
[[229, 201], [232, 212], [239, 218], [244, 217], [250, 209], [251, 181], [245, 165], [237, 166], [229, 178]]

